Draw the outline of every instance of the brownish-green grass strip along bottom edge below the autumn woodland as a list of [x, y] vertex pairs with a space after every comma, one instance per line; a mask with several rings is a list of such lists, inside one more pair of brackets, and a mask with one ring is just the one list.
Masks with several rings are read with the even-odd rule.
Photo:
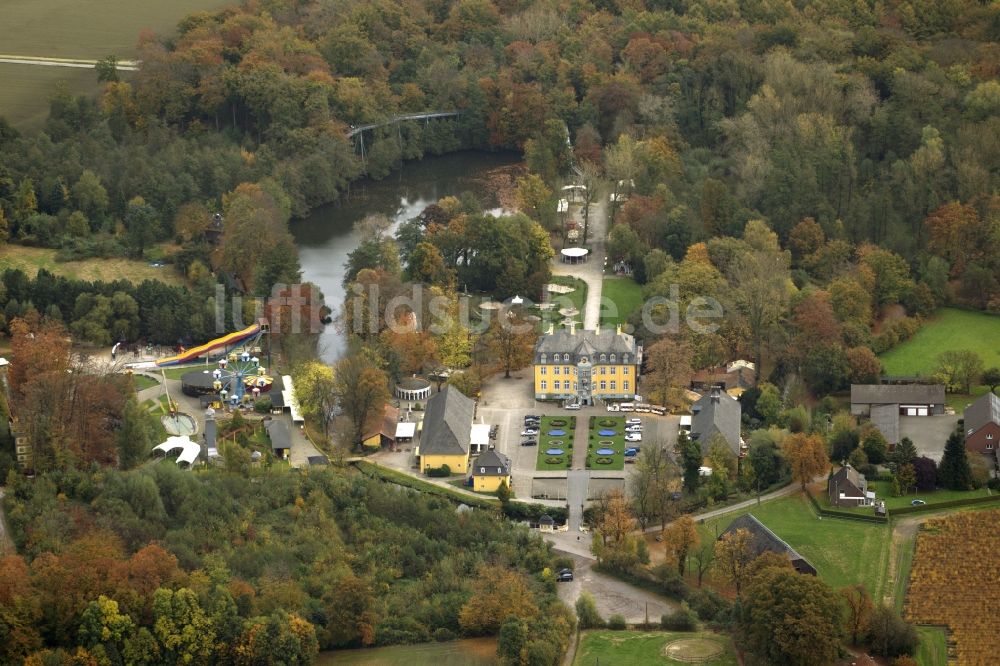
[[446, 643], [394, 645], [366, 650], [320, 652], [317, 666], [493, 666], [495, 638], [466, 638]]

